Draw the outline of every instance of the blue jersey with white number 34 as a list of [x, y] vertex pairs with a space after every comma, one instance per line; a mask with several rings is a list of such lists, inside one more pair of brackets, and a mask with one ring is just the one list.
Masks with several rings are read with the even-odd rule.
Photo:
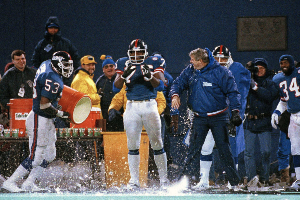
[[278, 73], [273, 77], [276, 88], [279, 89], [280, 99], [287, 102], [289, 113], [300, 111], [300, 68], [294, 69], [291, 75]]

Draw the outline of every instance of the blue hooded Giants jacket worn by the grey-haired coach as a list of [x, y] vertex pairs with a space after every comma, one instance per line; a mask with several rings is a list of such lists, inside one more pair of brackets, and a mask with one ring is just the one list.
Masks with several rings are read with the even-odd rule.
[[175, 79], [169, 97], [182, 94], [187, 89], [187, 106], [201, 117], [227, 108], [226, 98], [229, 99], [231, 110], [240, 109], [241, 95], [230, 70], [221, 66], [212, 56], [208, 48], [209, 63], [201, 70], [195, 70], [190, 64]]

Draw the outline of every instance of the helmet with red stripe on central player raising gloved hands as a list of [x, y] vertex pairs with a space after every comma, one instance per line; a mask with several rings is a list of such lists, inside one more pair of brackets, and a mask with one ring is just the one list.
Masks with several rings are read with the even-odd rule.
[[127, 54], [130, 63], [141, 64], [148, 56], [147, 44], [145, 44], [143, 40], [140, 39], [133, 40], [129, 45], [129, 50]]

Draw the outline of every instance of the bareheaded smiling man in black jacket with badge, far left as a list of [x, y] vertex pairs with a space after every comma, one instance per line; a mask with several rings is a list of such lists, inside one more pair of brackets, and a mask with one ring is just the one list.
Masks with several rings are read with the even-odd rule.
[[[32, 98], [34, 77], [37, 72], [35, 68], [26, 65], [26, 54], [22, 50], [12, 52], [14, 66], [6, 71], [0, 82], [0, 103], [3, 116], [8, 118], [10, 99]], [[8, 124], [5, 124], [8, 128]], [[15, 168], [22, 162], [25, 152], [25, 143], [11, 144], [9, 151], [0, 153], [0, 171], [4, 176], [10, 176]], [[22, 155], [23, 154], [23, 155]]]

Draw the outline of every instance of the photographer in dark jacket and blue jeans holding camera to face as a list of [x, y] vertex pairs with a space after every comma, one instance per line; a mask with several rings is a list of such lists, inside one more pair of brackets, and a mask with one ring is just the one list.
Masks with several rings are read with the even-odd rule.
[[255, 168], [255, 139], [258, 138], [261, 151], [259, 181], [267, 184], [270, 172], [271, 132], [270, 122], [272, 102], [278, 97], [278, 90], [272, 82], [272, 74], [268, 71], [267, 61], [263, 58], [254, 58], [248, 62], [246, 68], [252, 78], [247, 98], [247, 118], [244, 123], [245, 133], [245, 168], [248, 181], [256, 176]]

